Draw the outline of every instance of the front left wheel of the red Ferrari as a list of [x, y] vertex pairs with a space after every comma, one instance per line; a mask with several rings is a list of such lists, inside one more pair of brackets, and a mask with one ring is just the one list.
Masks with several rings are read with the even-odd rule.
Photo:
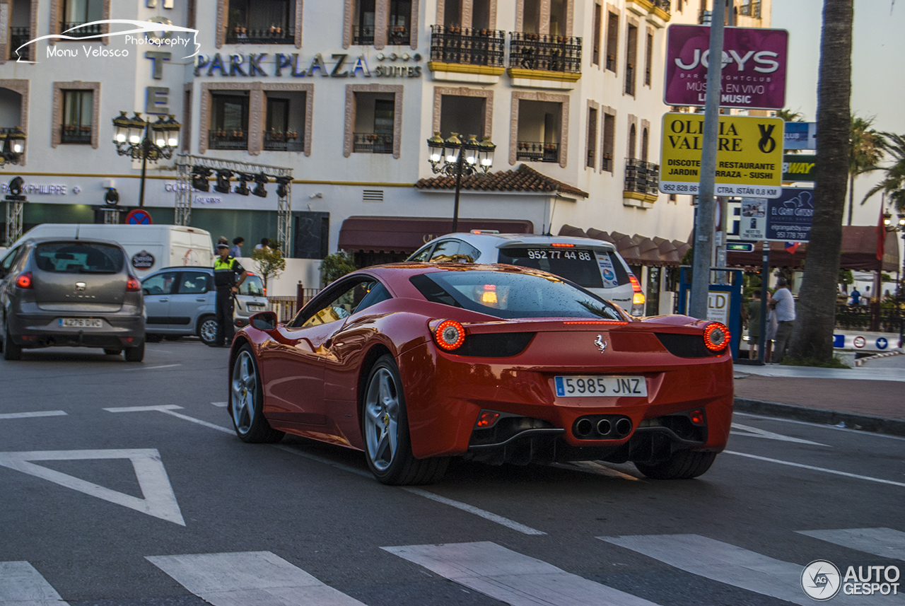
[[233, 429], [243, 442], [274, 443], [283, 431], [275, 430], [264, 418], [264, 393], [261, 374], [250, 346], [242, 346], [235, 355], [230, 374], [229, 404]]

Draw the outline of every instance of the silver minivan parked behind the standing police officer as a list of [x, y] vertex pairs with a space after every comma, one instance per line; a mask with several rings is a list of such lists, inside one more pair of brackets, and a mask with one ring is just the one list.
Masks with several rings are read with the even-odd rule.
[[[145, 293], [148, 340], [195, 335], [205, 345], [216, 341], [213, 268], [165, 268], [142, 279], [141, 288]], [[261, 277], [249, 272], [235, 298], [233, 321], [244, 326], [252, 314], [269, 308]]]

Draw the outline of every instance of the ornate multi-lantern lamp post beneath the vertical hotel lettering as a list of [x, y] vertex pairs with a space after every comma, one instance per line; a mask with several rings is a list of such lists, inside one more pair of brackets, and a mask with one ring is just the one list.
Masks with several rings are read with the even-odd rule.
[[157, 162], [173, 157], [173, 152], [179, 146], [179, 128], [182, 125], [176, 122], [176, 117], [157, 117], [157, 122], [147, 121], [141, 118], [138, 112], [132, 118], [120, 111], [119, 116], [113, 118], [113, 144], [119, 156], [129, 156], [134, 160], [141, 160], [141, 185], [138, 190], [138, 206], [145, 205], [145, 174], [148, 170], [148, 160]]

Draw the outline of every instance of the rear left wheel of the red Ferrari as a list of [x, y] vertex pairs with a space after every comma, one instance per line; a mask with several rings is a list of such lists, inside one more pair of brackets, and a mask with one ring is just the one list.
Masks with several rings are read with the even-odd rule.
[[[378, 358], [368, 374], [361, 399], [361, 431], [367, 466], [379, 482], [412, 486], [433, 484], [443, 478], [449, 457], [415, 459], [412, 454], [405, 393], [392, 355]], [[389, 440], [392, 432], [395, 450]]]

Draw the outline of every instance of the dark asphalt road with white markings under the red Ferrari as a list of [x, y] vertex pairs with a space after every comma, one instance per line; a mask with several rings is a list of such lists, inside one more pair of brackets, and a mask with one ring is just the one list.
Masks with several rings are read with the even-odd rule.
[[0, 606], [808, 604], [814, 560], [905, 569], [899, 438], [737, 414], [694, 480], [460, 462], [390, 488], [354, 451], [238, 440], [224, 349], [92, 352], [0, 360]]

